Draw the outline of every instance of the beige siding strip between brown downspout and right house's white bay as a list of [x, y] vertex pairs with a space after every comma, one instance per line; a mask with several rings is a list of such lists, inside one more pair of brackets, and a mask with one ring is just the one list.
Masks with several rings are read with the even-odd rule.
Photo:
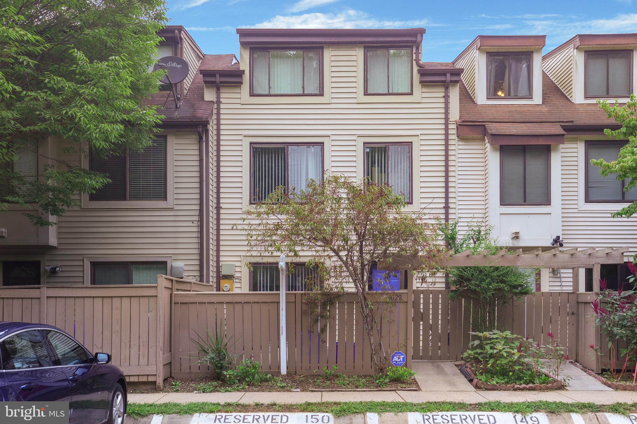
[[458, 216], [459, 230], [466, 231], [472, 218], [486, 215], [487, 164], [485, 141], [481, 139], [458, 141]]

